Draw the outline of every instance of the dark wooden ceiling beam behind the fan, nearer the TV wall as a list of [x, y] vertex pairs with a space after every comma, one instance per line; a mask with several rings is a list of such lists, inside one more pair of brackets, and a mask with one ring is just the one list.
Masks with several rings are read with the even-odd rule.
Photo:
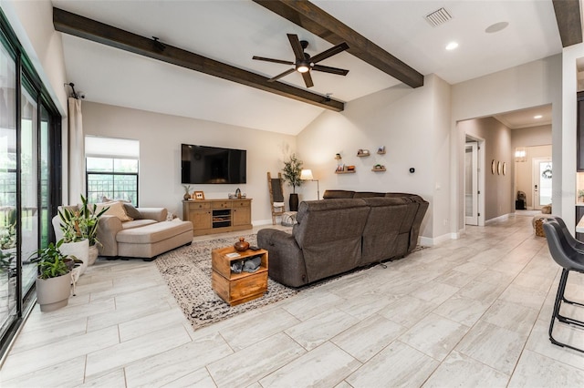
[[247, 87], [255, 87], [317, 107], [324, 107], [337, 112], [342, 111], [345, 107], [342, 101], [334, 98], [321, 96], [281, 82], [267, 82], [269, 78], [251, 71], [227, 65], [151, 38], [132, 34], [120, 28], [105, 25], [59, 8], [53, 8], [53, 25], [57, 31], [65, 34], [82, 37], [141, 56], [148, 56], [172, 65], [186, 67], [210, 76], [227, 79]]

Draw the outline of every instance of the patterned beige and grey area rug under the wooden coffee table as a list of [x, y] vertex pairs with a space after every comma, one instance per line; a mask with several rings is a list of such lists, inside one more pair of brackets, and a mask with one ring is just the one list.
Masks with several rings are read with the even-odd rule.
[[[251, 245], [257, 243], [255, 234], [241, 237]], [[155, 261], [174, 299], [195, 330], [244, 311], [281, 301], [298, 292], [268, 279], [267, 293], [261, 298], [233, 307], [223, 301], [211, 287], [211, 250], [231, 246], [236, 240], [221, 238], [193, 241], [190, 246], [162, 254]]]

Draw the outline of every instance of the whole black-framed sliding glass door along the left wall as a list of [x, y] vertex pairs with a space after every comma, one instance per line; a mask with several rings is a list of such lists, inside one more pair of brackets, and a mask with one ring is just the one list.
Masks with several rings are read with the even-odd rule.
[[54, 239], [61, 117], [0, 9], [0, 357], [36, 301], [35, 250]]

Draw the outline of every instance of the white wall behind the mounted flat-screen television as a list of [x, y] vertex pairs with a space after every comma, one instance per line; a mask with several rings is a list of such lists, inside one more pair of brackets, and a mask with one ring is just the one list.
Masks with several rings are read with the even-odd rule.
[[86, 135], [140, 140], [140, 206], [162, 206], [182, 217], [182, 143], [239, 148], [247, 150], [246, 184], [192, 185], [191, 191], [204, 191], [205, 199], [226, 199], [240, 188], [253, 199], [253, 223], [272, 222], [266, 173], [281, 170], [296, 149], [295, 137], [87, 101], [82, 112]]

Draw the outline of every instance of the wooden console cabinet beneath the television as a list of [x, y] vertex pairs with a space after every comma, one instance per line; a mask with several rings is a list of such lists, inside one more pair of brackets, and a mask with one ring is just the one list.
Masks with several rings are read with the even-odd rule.
[[252, 199], [183, 200], [183, 220], [193, 236], [252, 229]]

